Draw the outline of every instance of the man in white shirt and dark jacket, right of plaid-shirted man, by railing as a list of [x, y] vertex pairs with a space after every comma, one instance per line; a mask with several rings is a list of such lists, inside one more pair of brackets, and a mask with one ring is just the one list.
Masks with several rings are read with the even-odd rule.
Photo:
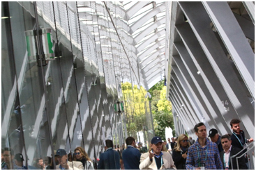
[[220, 139], [220, 142], [221, 142], [221, 145], [223, 145], [223, 149], [224, 149], [222, 152], [220, 152], [220, 159], [221, 159], [221, 162], [223, 163], [223, 169], [224, 170], [227, 170], [227, 169], [228, 170], [231, 170], [231, 169], [246, 170], [247, 166], [246, 166], [246, 160], [244, 157], [239, 158], [239, 168], [237, 168], [237, 165], [236, 165], [236, 158], [232, 158], [233, 168], [231, 166], [230, 157], [239, 153], [241, 150], [231, 145], [232, 140], [230, 136], [229, 135], [222, 136]]

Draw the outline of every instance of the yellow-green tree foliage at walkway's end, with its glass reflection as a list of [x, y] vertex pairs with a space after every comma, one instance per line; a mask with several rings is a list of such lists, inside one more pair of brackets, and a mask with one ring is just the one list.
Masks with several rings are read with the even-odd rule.
[[[145, 104], [151, 101], [151, 111], [153, 114], [153, 127], [156, 136], [165, 137], [165, 127], [171, 127], [174, 130], [172, 104], [166, 99], [166, 86], [164, 81], [160, 81], [153, 86], [149, 93], [151, 99], [145, 98], [146, 90], [141, 86], [131, 83], [122, 83], [123, 101], [125, 101], [126, 110], [126, 129], [128, 136], [137, 137], [138, 131], [145, 131], [146, 122]], [[149, 111], [149, 109], [147, 110]], [[173, 131], [174, 133], [174, 131]]]

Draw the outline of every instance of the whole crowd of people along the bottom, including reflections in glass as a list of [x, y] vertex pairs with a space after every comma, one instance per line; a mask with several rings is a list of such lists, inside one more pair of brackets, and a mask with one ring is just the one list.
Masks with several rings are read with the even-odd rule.
[[[100, 154], [99, 161], [94, 163], [82, 147], [76, 147], [73, 156], [65, 149], [58, 149], [54, 155], [56, 168], [59, 170], [230, 170], [248, 169], [248, 158], [242, 156], [236, 164], [235, 158], [230, 158], [244, 149], [246, 143], [253, 142], [253, 138], [246, 139], [240, 129], [240, 120], [230, 122], [232, 134], [220, 136], [217, 129], [209, 130], [209, 138], [204, 123], [194, 127], [197, 140], [181, 134], [177, 138], [167, 138], [163, 141], [159, 136], [151, 139], [149, 150], [136, 144], [135, 138], [126, 138], [126, 149], [123, 144], [114, 146], [112, 140], [105, 140], [105, 152]], [[211, 139], [211, 140], [210, 140]], [[171, 141], [172, 140], [172, 141]], [[22, 154], [13, 154], [13, 149], [2, 149], [2, 166], [4, 169], [54, 169], [53, 159], [37, 158], [33, 166], [23, 165]], [[93, 166], [94, 165], [94, 166]], [[96, 166], [97, 165], [97, 166]], [[232, 166], [231, 166], [232, 165]], [[238, 167], [237, 167], [238, 166]]]

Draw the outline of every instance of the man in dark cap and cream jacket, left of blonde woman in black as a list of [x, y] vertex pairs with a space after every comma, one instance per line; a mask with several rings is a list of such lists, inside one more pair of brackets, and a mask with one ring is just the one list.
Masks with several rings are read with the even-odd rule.
[[163, 142], [159, 136], [151, 140], [149, 152], [140, 156], [140, 169], [176, 169], [172, 156], [169, 152], [163, 152]]

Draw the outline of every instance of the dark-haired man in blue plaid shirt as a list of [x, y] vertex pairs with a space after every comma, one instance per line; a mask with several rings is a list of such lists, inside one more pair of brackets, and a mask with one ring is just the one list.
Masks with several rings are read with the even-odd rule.
[[195, 144], [188, 149], [186, 169], [222, 170], [223, 163], [220, 160], [218, 147], [216, 143], [206, 138], [207, 132], [204, 123], [196, 124], [194, 130], [198, 138]]

